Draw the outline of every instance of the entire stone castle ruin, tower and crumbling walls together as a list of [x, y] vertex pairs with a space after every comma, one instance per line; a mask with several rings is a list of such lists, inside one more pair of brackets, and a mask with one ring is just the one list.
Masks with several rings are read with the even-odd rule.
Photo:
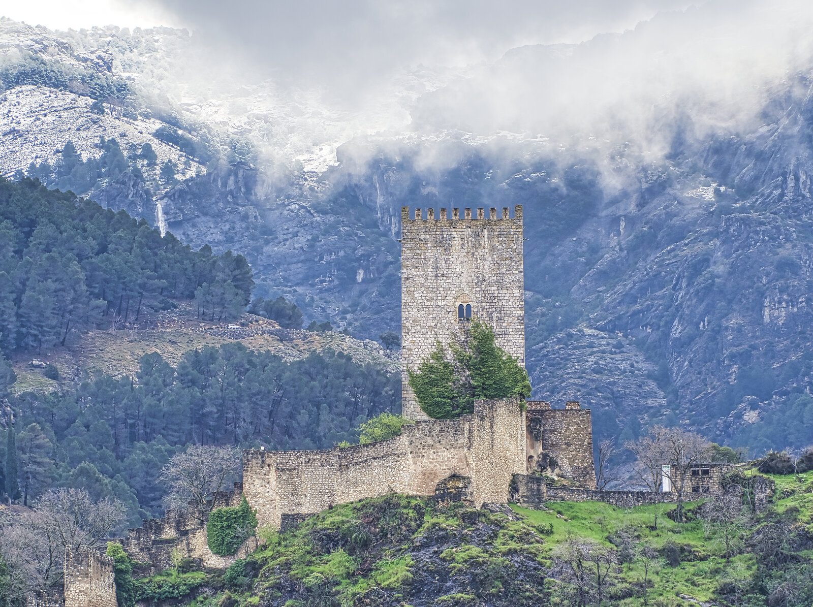
[[[243, 482], [219, 495], [215, 508], [245, 495], [259, 526], [283, 528], [333, 505], [401, 492], [484, 504], [517, 501], [533, 507], [559, 499], [598, 499], [593, 470], [590, 411], [570, 401], [553, 409], [544, 401], [476, 401], [472, 414], [429, 418], [415, 399], [407, 369], [417, 369], [437, 342], [446, 344], [473, 318], [493, 328], [496, 344], [524, 366], [522, 206], [497, 209], [402, 207], [402, 414], [415, 423], [389, 440], [307, 451], [243, 452]], [[555, 462], [576, 488], [549, 488], [541, 471]], [[620, 492], [619, 492], [620, 493]], [[615, 497], [619, 501], [651, 499]], [[123, 540], [139, 573], [191, 557], [223, 569], [256, 547], [250, 538], [233, 556], [207, 544], [205, 514], [167, 512], [145, 520]], [[68, 555], [63, 596], [29, 599], [37, 607], [115, 607], [112, 561], [99, 553]]]

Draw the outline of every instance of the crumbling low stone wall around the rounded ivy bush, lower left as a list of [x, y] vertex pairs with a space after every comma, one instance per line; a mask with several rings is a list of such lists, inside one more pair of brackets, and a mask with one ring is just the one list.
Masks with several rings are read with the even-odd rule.
[[[242, 483], [235, 483], [234, 491], [217, 496], [215, 509], [240, 505], [241, 496]], [[232, 556], [218, 556], [207, 544], [206, 520], [206, 513], [198, 518], [169, 510], [164, 518], [148, 518], [141, 522], [141, 527], [130, 529], [122, 540], [122, 547], [136, 561], [149, 563], [139, 570], [139, 574], [151, 574], [172, 566], [173, 551], [180, 553], [181, 557], [198, 559], [204, 566], [225, 569], [253, 548], [250, 538]]]

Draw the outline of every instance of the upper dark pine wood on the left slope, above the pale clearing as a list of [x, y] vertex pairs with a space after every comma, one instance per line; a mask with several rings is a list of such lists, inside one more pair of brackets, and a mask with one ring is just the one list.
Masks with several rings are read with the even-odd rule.
[[233, 318], [254, 288], [242, 255], [194, 251], [126, 212], [0, 178], [0, 351], [41, 352], [111, 314], [137, 321], [143, 306], [192, 299]]

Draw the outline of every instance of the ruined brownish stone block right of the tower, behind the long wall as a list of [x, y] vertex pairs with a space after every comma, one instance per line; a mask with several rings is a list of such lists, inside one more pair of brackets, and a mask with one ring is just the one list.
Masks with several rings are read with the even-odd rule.
[[593, 421], [589, 409], [569, 401], [551, 409], [545, 401], [528, 401], [528, 465], [542, 453], [553, 456], [563, 474], [582, 487], [596, 488], [593, 467]]

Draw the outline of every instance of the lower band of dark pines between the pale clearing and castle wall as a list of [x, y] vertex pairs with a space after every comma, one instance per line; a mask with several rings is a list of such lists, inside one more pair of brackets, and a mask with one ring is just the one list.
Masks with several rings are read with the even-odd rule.
[[102, 375], [75, 392], [2, 388], [18, 410], [0, 430], [9, 498], [30, 505], [49, 488], [86, 488], [122, 501], [137, 526], [162, 512], [158, 470], [185, 445], [328, 449], [396, 410], [400, 381], [344, 353], [286, 362], [237, 342], [190, 351], [176, 366], [146, 354], [133, 377]]

